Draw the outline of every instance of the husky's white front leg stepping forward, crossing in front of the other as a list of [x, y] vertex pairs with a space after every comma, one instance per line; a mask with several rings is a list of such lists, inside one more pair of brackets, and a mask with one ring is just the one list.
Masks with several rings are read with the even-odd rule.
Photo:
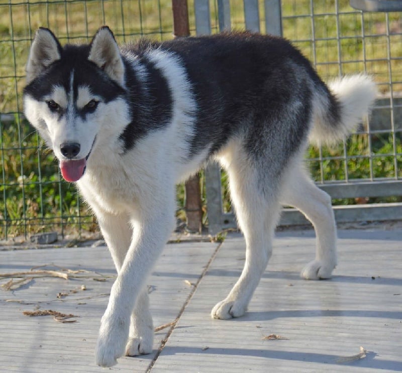
[[[159, 206], [160, 207], [160, 206]], [[147, 276], [152, 270], [162, 248], [174, 226], [174, 209], [157, 211], [150, 216], [141, 216], [141, 221], [133, 219], [133, 239], [124, 259], [122, 268], [118, 274], [109, 299], [109, 304], [102, 317], [99, 336], [96, 346], [96, 363], [101, 366], [116, 364], [117, 358], [126, 353], [126, 344], [129, 339], [130, 317], [136, 302], [147, 302], [146, 295], [141, 294], [145, 286]], [[147, 304], [136, 305], [139, 308], [147, 308]], [[149, 311], [148, 311], [149, 312]], [[143, 314], [143, 312], [140, 312]], [[134, 312], [133, 317], [136, 317]], [[148, 315], [146, 319], [150, 317]], [[147, 320], [133, 320], [134, 329], [144, 326]], [[149, 320], [148, 320], [149, 321]], [[144, 324], [144, 325], [142, 325]], [[141, 330], [144, 328], [140, 328]], [[145, 330], [144, 329], [144, 330]], [[142, 337], [152, 339], [152, 333], [146, 333]], [[138, 343], [137, 343], [138, 342]], [[127, 345], [128, 349], [137, 347], [141, 352], [140, 343], [149, 349], [152, 340], [136, 340]], [[132, 353], [131, 350], [127, 350]]]

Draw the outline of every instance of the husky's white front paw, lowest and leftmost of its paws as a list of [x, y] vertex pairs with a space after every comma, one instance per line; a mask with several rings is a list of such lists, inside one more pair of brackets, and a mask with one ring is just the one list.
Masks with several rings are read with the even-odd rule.
[[96, 343], [95, 360], [100, 366], [113, 366], [124, 355], [129, 324], [122, 320], [103, 317]]

